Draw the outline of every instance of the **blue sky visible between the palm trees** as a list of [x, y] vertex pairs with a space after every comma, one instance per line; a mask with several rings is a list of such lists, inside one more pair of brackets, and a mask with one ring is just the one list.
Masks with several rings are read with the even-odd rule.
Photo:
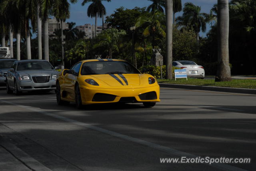
[[[83, 0], [78, 0], [76, 4], [71, 4], [70, 6], [70, 18], [66, 20], [66, 22], [75, 22], [76, 26], [81, 26], [84, 24], [94, 24], [95, 19], [89, 18], [87, 16], [87, 8], [90, 5], [90, 3], [85, 4], [82, 6]], [[193, 4], [197, 6], [201, 6], [201, 11], [205, 13], [209, 13], [210, 9], [214, 4], [217, 3], [217, 0], [182, 0], [182, 5], [186, 2], [192, 2]], [[111, 2], [104, 2], [103, 4], [106, 8], [107, 15], [110, 16], [114, 13], [116, 8], [120, 8], [121, 6], [124, 6], [124, 8], [132, 9], [136, 6], [138, 7], [147, 7], [150, 4], [152, 4], [149, 0], [111, 0]], [[182, 12], [179, 12], [176, 14], [176, 16], [182, 15]], [[102, 20], [98, 19], [98, 26], [102, 25]], [[208, 32], [210, 29], [210, 26], [207, 27], [206, 32]], [[200, 36], [205, 37], [206, 33], [200, 33]]]

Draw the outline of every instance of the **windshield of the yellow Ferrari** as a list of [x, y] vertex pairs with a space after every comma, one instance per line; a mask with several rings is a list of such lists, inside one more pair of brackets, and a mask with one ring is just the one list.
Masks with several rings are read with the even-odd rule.
[[94, 61], [85, 62], [82, 66], [81, 74], [140, 74], [140, 72], [124, 61]]

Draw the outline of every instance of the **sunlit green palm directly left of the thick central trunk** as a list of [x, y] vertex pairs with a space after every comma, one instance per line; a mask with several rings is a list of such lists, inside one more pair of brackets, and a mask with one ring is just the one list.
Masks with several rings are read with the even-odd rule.
[[142, 16], [137, 19], [135, 26], [136, 28], [142, 26], [144, 27], [144, 31], [142, 33], [144, 37], [152, 36], [152, 48], [154, 49], [156, 36], [166, 36], [164, 31], [164, 22], [164, 13], [155, 10], [154, 12], [150, 13], [150, 16], [148, 16], [148, 14], [142, 14]]

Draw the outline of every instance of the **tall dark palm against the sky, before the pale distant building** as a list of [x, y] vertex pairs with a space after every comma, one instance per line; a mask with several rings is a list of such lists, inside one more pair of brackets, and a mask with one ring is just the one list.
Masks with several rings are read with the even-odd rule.
[[91, 17], [91, 18], [95, 17], [94, 37], [96, 37], [96, 33], [97, 33], [97, 18], [98, 17], [102, 17], [102, 20], [103, 20], [102, 27], [104, 26], [103, 16], [106, 15], [106, 8], [102, 4], [102, 1], [110, 2], [111, 0], [83, 0], [83, 2], [82, 2], [82, 6], [84, 6], [88, 2], [92, 2], [92, 4], [90, 4], [88, 6], [87, 16]]

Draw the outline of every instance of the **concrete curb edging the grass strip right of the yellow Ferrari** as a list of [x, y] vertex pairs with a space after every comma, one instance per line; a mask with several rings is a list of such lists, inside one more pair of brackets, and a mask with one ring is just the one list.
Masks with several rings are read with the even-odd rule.
[[197, 89], [206, 91], [221, 91], [228, 93], [244, 93], [244, 94], [256, 94], [256, 89], [248, 88], [231, 88], [231, 87], [213, 87], [213, 86], [203, 86], [203, 85], [184, 85], [184, 84], [166, 84], [159, 83], [160, 87], [168, 88], [181, 88], [181, 89]]

